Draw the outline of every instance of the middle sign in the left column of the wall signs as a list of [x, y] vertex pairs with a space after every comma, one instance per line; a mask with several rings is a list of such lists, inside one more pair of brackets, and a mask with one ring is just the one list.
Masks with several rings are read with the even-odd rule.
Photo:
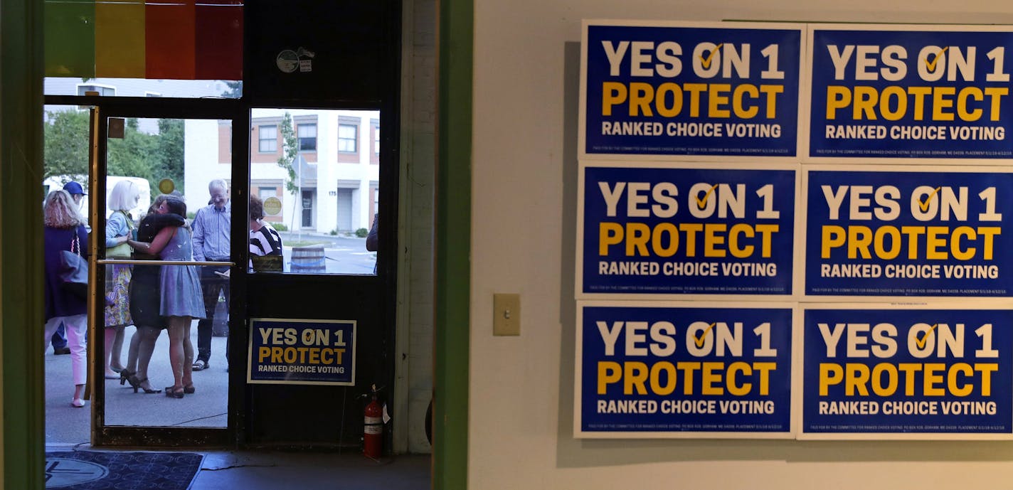
[[795, 170], [582, 172], [578, 294], [792, 294]]

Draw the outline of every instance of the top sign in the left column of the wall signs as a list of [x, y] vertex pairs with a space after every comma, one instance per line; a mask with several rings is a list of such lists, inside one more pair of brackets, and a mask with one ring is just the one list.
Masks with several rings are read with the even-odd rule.
[[589, 24], [583, 155], [793, 157], [799, 27]]

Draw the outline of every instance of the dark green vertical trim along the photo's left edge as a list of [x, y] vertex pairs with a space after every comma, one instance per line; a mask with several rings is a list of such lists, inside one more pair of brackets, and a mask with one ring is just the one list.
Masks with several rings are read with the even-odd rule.
[[0, 486], [19, 490], [45, 485], [42, 9], [0, 0]]

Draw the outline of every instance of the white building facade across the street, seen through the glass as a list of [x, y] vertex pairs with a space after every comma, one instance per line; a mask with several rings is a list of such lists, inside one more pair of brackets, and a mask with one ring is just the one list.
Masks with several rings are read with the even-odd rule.
[[[286, 112], [298, 141], [295, 192], [278, 164]], [[264, 210], [265, 221], [325, 234], [370, 228], [379, 202], [379, 111], [254, 109], [250, 123], [250, 192], [282, 201], [277, 214]], [[227, 120], [186, 120], [183, 193], [191, 210], [208, 195], [211, 180], [230, 180], [232, 131]]]

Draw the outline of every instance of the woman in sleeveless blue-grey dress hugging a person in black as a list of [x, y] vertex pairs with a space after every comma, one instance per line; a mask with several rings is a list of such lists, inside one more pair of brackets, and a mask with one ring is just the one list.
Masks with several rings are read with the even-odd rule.
[[[186, 216], [186, 205], [170, 196], [158, 207], [158, 214]], [[162, 260], [192, 261], [190, 236], [187, 226], [167, 226], [155, 235], [151, 243], [134, 240], [127, 243], [142, 252], [157, 254]], [[162, 300], [159, 314], [169, 324], [169, 363], [174, 378], [174, 384], [165, 387], [165, 396], [182, 398], [183, 394], [196, 391], [190, 369], [193, 362], [190, 323], [193, 319], [204, 318], [201, 274], [194, 265], [163, 265], [159, 280]]]

